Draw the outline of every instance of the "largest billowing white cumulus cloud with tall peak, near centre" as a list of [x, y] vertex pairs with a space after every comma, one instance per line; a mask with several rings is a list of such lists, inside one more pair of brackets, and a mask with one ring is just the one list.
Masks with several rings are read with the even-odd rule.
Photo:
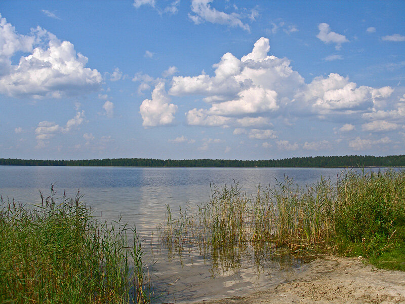
[[218, 125], [228, 124], [227, 117], [274, 112], [280, 100], [293, 98], [291, 88], [304, 86], [304, 80], [291, 68], [288, 59], [268, 56], [269, 49], [269, 40], [262, 37], [254, 44], [252, 52], [241, 59], [226, 53], [213, 65], [214, 76], [202, 73], [195, 77], [173, 77], [169, 94], [207, 96], [204, 101], [211, 104], [210, 109], [188, 112], [190, 117], [198, 113], [199, 120], [188, 120], [194, 125], [198, 122], [208, 125], [211, 116], [215, 119], [209, 125]]

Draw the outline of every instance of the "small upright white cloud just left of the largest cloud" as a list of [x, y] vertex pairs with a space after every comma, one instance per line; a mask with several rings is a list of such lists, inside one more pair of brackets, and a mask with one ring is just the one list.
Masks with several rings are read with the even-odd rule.
[[155, 127], [173, 123], [177, 105], [169, 102], [165, 83], [158, 83], [152, 92], [152, 99], [145, 99], [139, 107], [143, 119], [142, 126]]

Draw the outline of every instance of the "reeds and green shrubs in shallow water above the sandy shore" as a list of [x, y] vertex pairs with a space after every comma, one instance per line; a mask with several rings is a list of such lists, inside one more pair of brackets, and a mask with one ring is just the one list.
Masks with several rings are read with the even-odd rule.
[[405, 271], [405, 171], [346, 171], [336, 184], [321, 179], [306, 188], [286, 177], [255, 197], [237, 183], [214, 186], [208, 203], [177, 218], [168, 206], [161, 238], [170, 248], [199, 244], [214, 257], [273, 244], [295, 254], [363, 255]]

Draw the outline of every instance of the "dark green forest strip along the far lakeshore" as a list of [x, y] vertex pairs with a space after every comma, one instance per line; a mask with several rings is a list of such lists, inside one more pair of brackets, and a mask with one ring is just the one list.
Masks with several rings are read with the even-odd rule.
[[111, 166], [111, 167], [405, 167], [405, 155], [316, 156], [280, 160], [158, 160], [140, 158], [102, 160], [21, 160], [0, 159], [2, 166]]

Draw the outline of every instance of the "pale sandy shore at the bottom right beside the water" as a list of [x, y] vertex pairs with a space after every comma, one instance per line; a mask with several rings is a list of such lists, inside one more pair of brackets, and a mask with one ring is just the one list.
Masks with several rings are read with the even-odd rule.
[[326, 256], [269, 290], [200, 303], [405, 303], [405, 272], [379, 270], [361, 258]]

